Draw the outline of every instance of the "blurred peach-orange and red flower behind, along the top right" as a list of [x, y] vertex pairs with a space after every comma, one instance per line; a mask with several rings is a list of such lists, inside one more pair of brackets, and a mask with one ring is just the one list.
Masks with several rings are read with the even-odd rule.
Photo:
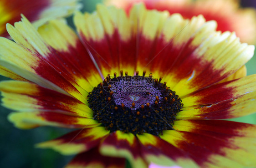
[[240, 8], [239, 0], [105, 0], [127, 12], [132, 5], [143, 2], [147, 9], [168, 10], [180, 13], [184, 18], [204, 15], [205, 19], [216, 20], [217, 30], [235, 31], [242, 42], [256, 43], [256, 10]]

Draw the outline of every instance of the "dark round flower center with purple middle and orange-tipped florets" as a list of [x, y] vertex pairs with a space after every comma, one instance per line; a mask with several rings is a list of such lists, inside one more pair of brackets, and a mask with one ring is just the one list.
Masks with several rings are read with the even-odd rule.
[[183, 104], [178, 95], [161, 83], [162, 77], [152, 74], [108, 76], [88, 95], [93, 117], [111, 132], [120, 130], [158, 136], [163, 130], [172, 129], [176, 113]]

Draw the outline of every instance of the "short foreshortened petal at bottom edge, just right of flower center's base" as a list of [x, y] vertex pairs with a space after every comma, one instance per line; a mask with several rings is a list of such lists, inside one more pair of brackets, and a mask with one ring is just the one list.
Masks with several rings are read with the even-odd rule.
[[189, 158], [184, 151], [176, 148], [170, 143], [156, 137], [154, 135], [144, 133], [137, 135], [140, 143], [142, 143], [143, 157], [148, 163], [156, 163], [163, 166], [180, 165], [183, 168], [197, 168], [194, 161]]

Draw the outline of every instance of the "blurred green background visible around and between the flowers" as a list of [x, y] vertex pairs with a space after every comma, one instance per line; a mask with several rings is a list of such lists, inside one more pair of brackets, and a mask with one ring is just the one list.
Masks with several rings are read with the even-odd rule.
[[[102, 0], [83, 0], [82, 11], [92, 12]], [[241, 0], [244, 7], [256, 7], [255, 0]], [[72, 17], [68, 18], [72, 25]], [[247, 74], [256, 73], [256, 56], [247, 64]], [[0, 76], [0, 80], [7, 78]], [[20, 130], [7, 121], [10, 110], [0, 106], [0, 168], [62, 168], [72, 156], [62, 156], [51, 149], [37, 149], [34, 144], [59, 137], [71, 129], [39, 127]], [[256, 114], [232, 119], [232, 121], [256, 124]]]

